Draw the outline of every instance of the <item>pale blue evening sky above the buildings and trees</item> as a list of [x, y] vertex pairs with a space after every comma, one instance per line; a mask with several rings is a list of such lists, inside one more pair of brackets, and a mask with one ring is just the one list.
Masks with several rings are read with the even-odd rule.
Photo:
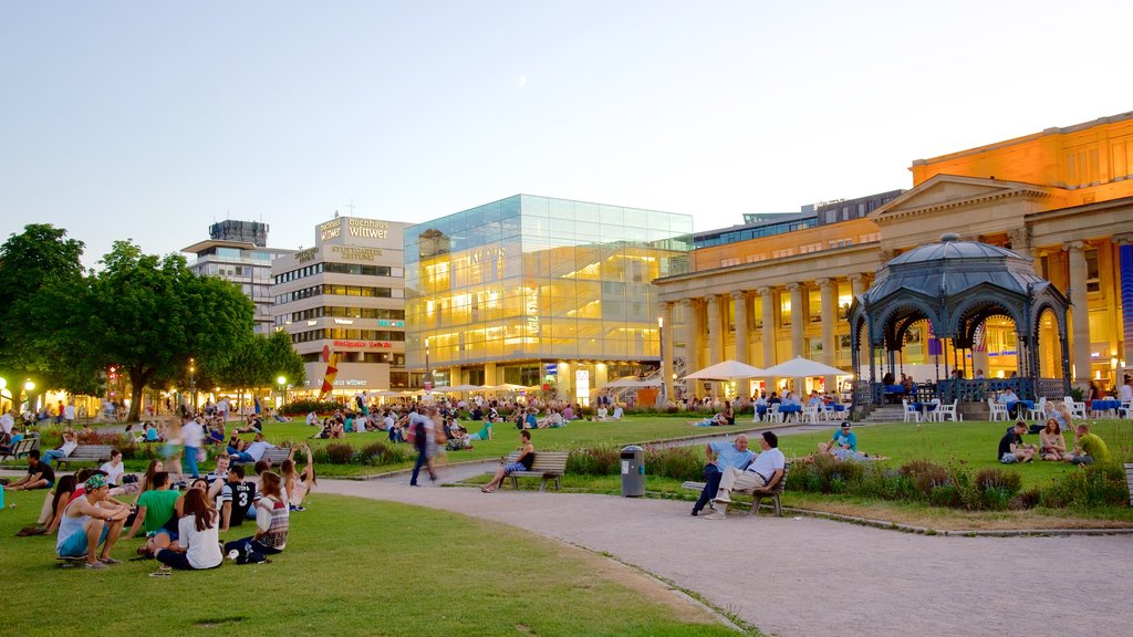
[[0, 0], [0, 239], [94, 266], [517, 193], [695, 216], [1133, 110], [1133, 2]]

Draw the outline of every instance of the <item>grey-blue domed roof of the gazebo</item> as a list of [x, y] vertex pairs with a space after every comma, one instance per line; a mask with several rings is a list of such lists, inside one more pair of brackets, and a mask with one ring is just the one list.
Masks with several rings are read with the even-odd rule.
[[1034, 273], [1033, 261], [998, 246], [961, 241], [948, 233], [937, 244], [918, 246], [886, 263], [862, 296], [870, 304], [902, 289], [928, 297], [951, 297], [983, 283], [1026, 295], [1028, 286], [1038, 291], [1049, 284]]

